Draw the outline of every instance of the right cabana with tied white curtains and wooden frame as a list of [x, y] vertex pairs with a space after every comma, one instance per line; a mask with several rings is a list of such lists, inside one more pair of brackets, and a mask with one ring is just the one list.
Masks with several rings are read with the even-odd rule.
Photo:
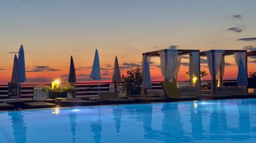
[[[224, 87], [223, 75], [225, 69], [225, 56], [234, 55], [239, 68], [236, 86]], [[247, 51], [246, 50], [208, 50], [200, 52], [200, 56], [207, 57], [208, 69], [211, 75], [211, 94], [247, 93]], [[219, 77], [218, 85], [216, 76]]]

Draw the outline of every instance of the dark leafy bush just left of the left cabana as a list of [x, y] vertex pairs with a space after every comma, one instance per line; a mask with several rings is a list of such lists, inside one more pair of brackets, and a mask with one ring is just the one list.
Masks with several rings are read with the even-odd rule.
[[126, 75], [122, 75], [121, 87], [123, 87], [125, 95], [138, 95], [141, 92], [142, 75], [141, 69], [127, 70]]

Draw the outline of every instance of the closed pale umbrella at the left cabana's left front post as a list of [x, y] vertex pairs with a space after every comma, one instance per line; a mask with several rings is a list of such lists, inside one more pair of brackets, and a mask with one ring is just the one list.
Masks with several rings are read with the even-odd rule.
[[142, 71], [142, 87], [148, 89], [148, 96], [150, 96], [150, 89], [152, 89], [151, 76], [150, 76], [150, 64], [148, 64], [147, 58], [144, 59]]

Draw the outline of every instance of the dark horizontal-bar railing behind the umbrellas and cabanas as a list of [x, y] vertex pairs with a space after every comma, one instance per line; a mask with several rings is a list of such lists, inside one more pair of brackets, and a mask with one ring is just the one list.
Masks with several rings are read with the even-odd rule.
[[[152, 90], [162, 90], [162, 81], [152, 81]], [[211, 80], [202, 80], [201, 85], [210, 85]], [[217, 81], [218, 82], [218, 81]], [[237, 80], [224, 80], [225, 86], [236, 85]], [[178, 81], [179, 88], [189, 86], [189, 81]], [[50, 84], [22, 84], [21, 85], [21, 98], [46, 98], [41, 89]], [[117, 94], [124, 95], [124, 88], [120, 83], [117, 83]], [[77, 97], [93, 97], [98, 93], [98, 82], [77, 82], [75, 84]], [[208, 86], [209, 88], [210, 86]], [[100, 92], [115, 92], [114, 82], [100, 82]], [[8, 85], [0, 84], [0, 99], [8, 99]]]

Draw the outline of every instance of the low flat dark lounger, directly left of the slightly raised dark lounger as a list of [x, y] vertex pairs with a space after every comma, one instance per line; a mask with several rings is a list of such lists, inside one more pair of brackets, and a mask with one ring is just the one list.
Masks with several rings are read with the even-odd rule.
[[89, 105], [96, 105], [97, 101], [90, 101], [90, 100], [60, 100], [60, 106], [89, 106]]

